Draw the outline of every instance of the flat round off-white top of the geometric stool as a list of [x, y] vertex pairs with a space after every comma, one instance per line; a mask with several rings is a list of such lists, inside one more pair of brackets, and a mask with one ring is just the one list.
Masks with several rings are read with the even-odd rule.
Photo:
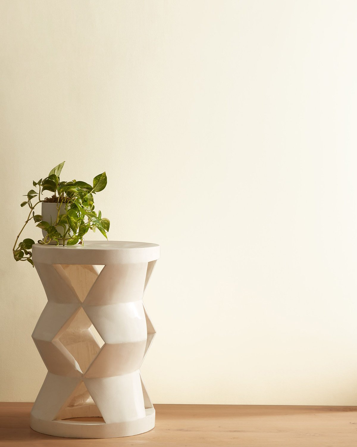
[[32, 259], [36, 264], [133, 264], [156, 261], [160, 257], [160, 245], [149, 242], [121, 240], [87, 240], [84, 245], [32, 246]]

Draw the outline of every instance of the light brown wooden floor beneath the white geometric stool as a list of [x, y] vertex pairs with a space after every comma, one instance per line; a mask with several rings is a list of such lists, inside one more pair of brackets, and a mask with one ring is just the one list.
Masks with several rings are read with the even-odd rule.
[[356, 447], [357, 407], [155, 405], [156, 427], [113, 439], [68, 439], [29, 427], [29, 403], [0, 403], [1, 447]]

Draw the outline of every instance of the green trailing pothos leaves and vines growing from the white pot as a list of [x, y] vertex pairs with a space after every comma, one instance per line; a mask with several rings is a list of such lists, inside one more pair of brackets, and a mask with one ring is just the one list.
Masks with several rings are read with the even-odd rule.
[[[94, 177], [93, 185], [85, 181], [61, 181], [60, 174], [65, 162], [52, 169], [46, 178], [33, 181], [36, 190], [29, 190], [25, 197], [27, 200], [21, 203], [21, 207], [29, 206], [29, 215], [17, 235], [12, 252], [16, 261], [27, 261], [33, 266], [31, 248], [35, 243], [32, 239], [24, 239], [18, 243], [22, 231], [33, 220], [37, 227], [47, 232], [39, 244], [75, 245], [83, 244], [83, 237], [88, 230], [98, 229], [108, 239], [109, 219], [102, 217], [94, 211], [93, 194], [104, 190], [107, 185], [107, 176], [104, 173]], [[54, 194], [51, 198], [42, 199], [44, 191]], [[42, 215], [35, 214], [35, 207], [42, 202], [56, 203], [57, 215], [53, 222], [42, 220]]]

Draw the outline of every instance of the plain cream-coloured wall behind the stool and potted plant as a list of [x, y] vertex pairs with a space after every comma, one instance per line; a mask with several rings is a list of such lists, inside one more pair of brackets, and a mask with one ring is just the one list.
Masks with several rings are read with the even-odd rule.
[[357, 405], [356, 17], [347, 0], [0, 0], [1, 401], [46, 374], [46, 296], [11, 248], [21, 195], [66, 160], [66, 179], [106, 170], [112, 240], [162, 246], [154, 402]]

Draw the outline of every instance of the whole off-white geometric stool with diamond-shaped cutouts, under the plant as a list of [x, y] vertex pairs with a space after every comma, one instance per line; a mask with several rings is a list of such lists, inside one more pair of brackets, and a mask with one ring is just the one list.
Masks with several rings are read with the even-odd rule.
[[159, 245], [142, 242], [33, 245], [48, 299], [32, 334], [48, 369], [33, 430], [116, 438], [154, 428], [140, 366], [155, 329], [142, 297], [159, 257]]

